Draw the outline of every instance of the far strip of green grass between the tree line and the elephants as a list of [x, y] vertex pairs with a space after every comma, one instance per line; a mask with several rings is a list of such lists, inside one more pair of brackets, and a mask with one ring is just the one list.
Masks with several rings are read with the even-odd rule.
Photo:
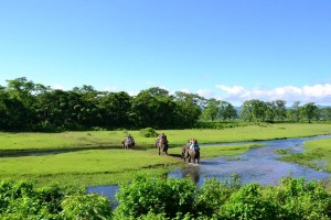
[[[200, 143], [242, 142], [331, 134], [331, 124], [289, 124], [275, 123], [263, 125], [236, 127], [224, 130], [158, 130], [164, 132], [171, 146], [197, 139]], [[0, 153], [22, 150], [64, 150], [120, 147], [125, 135], [134, 135], [140, 148], [152, 147], [154, 138], [143, 138], [139, 131], [89, 131], [63, 133], [8, 133], [0, 132]]]

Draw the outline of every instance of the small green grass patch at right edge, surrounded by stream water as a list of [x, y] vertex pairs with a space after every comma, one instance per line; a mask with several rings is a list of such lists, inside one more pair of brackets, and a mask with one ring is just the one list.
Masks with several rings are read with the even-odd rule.
[[[301, 164], [318, 170], [331, 172], [331, 139], [305, 142], [305, 152], [280, 157], [281, 161]], [[323, 162], [321, 166], [318, 162]]]

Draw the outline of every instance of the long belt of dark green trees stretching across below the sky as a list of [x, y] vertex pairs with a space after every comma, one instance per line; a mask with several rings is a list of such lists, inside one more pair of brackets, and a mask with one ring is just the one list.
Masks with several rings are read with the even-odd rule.
[[25, 77], [0, 86], [0, 130], [65, 131], [85, 129], [194, 128], [199, 121], [311, 122], [331, 121], [331, 108], [285, 100], [232, 103], [195, 94], [152, 87], [137, 96], [98, 91], [83, 85], [72, 90], [52, 89]]

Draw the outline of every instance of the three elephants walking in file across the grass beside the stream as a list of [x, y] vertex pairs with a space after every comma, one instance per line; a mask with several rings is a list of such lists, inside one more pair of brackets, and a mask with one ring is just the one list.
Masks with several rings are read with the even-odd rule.
[[[122, 142], [122, 148], [131, 148], [135, 150], [135, 141], [134, 139], [126, 139]], [[154, 144], [156, 148], [158, 148], [159, 155], [161, 155], [161, 152], [166, 153], [168, 155], [168, 141], [164, 139], [158, 139]], [[182, 146], [182, 153], [181, 157], [184, 161], [188, 161], [189, 163], [199, 164], [200, 162], [200, 151], [194, 151], [191, 148], [188, 148], [186, 145]]]

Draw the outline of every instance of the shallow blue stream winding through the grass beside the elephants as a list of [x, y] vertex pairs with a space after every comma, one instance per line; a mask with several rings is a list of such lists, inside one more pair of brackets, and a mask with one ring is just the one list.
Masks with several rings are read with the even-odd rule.
[[[202, 144], [202, 160], [200, 165], [186, 164], [183, 167], [173, 169], [168, 176], [175, 178], [190, 177], [197, 186], [201, 186], [205, 178], [217, 178], [218, 180], [222, 180], [228, 179], [233, 174], [239, 176], [242, 184], [258, 183], [260, 185], [278, 184], [279, 179], [286, 176], [305, 177], [308, 180], [329, 179], [331, 173], [318, 172], [306, 166], [277, 161], [277, 157], [281, 155], [276, 154], [274, 151], [290, 148], [291, 153], [299, 153], [303, 151], [302, 144], [305, 141], [330, 138], [331, 135], [321, 135], [301, 139], [228, 143], [223, 145], [244, 143], [265, 143], [266, 145], [253, 148], [242, 155], [220, 156], [212, 160], [203, 160], [203, 147], [209, 147], [213, 144]], [[115, 201], [114, 195], [118, 188], [118, 186], [114, 185], [92, 186], [87, 188], [87, 193], [96, 193]]]

